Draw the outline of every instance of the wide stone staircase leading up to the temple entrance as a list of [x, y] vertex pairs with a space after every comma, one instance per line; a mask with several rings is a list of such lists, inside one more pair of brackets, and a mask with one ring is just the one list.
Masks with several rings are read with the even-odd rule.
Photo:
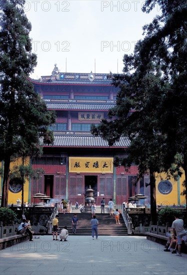
[[[67, 226], [69, 235], [72, 235], [72, 221], [71, 218], [74, 213], [58, 213], [58, 225], [61, 230], [63, 226]], [[76, 228], [77, 235], [91, 235], [91, 214], [90, 213], [78, 213], [78, 225]], [[123, 220], [122, 215], [119, 215], [120, 224], [116, 224], [114, 214], [110, 216], [109, 214], [96, 214], [96, 218], [99, 222], [98, 224], [98, 234], [99, 235], [127, 235], [127, 228]], [[60, 231], [59, 230], [59, 231]], [[58, 232], [59, 232], [58, 231]]]

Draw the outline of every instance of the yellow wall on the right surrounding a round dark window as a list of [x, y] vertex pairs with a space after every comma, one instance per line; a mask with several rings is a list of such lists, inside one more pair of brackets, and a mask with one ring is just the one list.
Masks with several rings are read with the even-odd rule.
[[172, 177], [169, 181], [172, 184], [172, 190], [168, 194], [162, 194], [158, 190], [158, 183], [161, 180], [166, 179], [166, 174], [161, 173], [156, 175], [156, 204], [162, 203], [163, 205], [183, 205], [185, 204], [185, 196], [180, 195], [184, 187], [182, 186], [182, 182], [184, 180], [184, 174], [181, 177], [178, 177], [178, 180], [174, 180]]

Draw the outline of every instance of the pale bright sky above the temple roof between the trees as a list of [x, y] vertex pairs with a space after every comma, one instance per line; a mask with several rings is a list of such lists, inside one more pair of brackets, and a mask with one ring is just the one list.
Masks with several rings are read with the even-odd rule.
[[124, 54], [133, 52], [142, 26], [160, 13], [141, 11], [143, 0], [25, 0], [38, 79], [60, 72], [121, 73]]

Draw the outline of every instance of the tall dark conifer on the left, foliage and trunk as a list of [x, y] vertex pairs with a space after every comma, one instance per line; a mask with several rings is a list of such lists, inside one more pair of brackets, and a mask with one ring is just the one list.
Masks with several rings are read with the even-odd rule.
[[27, 77], [36, 65], [31, 53], [31, 24], [24, 14], [24, 0], [0, 1], [0, 160], [3, 160], [1, 206], [8, 202], [9, 164], [14, 154], [39, 153], [50, 144], [48, 125], [55, 114], [33, 91]]

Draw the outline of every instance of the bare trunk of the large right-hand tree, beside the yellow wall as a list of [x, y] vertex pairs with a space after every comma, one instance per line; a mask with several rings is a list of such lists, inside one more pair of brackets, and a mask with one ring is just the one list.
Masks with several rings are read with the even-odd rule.
[[155, 172], [150, 170], [150, 220], [152, 224], [157, 223], [155, 182]]

